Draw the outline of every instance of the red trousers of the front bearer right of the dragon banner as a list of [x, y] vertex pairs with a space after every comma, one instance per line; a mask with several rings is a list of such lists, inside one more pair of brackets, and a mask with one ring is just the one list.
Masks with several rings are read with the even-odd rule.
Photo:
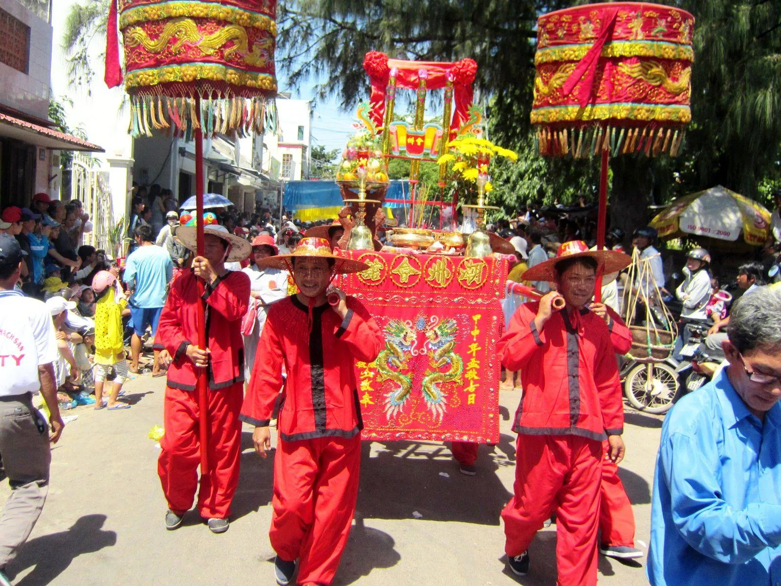
[[577, 435], [521, 434], [516, 453], [515, 494], [501, 512], [505, 552], [519, 556], [529, 549], [551, 510], [557, 510], [558, 584], [594, 586], [601, 443]]

